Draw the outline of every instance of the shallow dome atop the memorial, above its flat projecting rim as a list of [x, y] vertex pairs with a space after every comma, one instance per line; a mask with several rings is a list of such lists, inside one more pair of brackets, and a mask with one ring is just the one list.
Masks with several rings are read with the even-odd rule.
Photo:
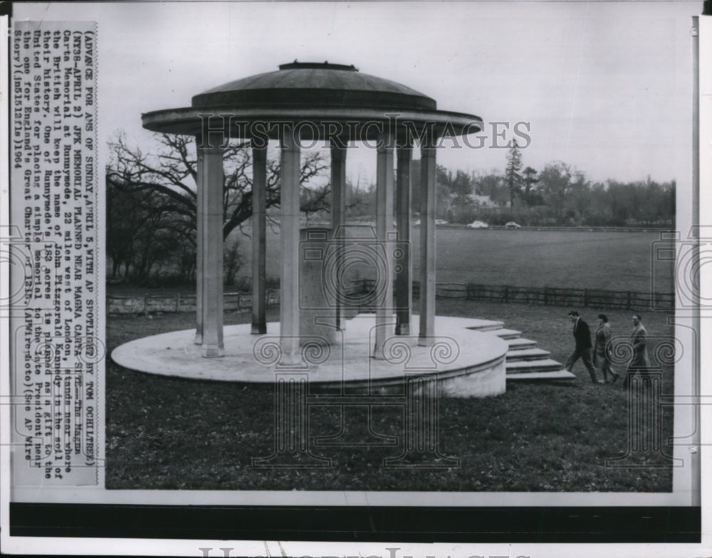
[[196, 95], [194, 108], [358, 108], [431, 111], [431, 97], [353, 65], [297, 62], [276, 72], [243, 77]]

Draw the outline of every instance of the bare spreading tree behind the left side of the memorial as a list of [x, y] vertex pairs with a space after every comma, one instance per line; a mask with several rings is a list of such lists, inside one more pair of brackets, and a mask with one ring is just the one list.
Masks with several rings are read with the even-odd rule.
[[[157, 149], [150, 153], [130, 146], [122, 133], [109, 143], [107, 250], [115, 279], [121, 267], [124, 267], [124, 278], [131, 268], [134, 278], [142, 281], [161, 267], [172, 268], [174, 274], [184, 280], [194, 275], [197, 223], [194, 138], [169, 134], [155, 134], [155, 138]], [[224, 239], [252, 216], [250, 147], [248, 141], [242, 141], [224, 150]], [[303, 154], [301, 199], [307, 213], [330, 207], [330, 185], [313, 184], [327, 168], [319, 151]], [[279, 162], [268, 159], [266, 208], [278, 207], [279, 202]]]

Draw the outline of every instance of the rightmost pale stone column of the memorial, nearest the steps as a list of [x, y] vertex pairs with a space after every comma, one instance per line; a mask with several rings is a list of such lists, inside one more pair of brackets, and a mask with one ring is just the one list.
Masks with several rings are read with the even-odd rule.
[[420, 331], [418, 344], [435, 335], [435, 146], [425, 135], [420, 147]]

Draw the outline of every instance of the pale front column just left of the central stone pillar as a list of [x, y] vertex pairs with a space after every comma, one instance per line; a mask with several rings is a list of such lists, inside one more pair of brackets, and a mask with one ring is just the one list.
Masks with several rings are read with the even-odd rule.
[[280, 345], [284, 364], [299, 360], [299, 139], [283, 128], [281, 145]]

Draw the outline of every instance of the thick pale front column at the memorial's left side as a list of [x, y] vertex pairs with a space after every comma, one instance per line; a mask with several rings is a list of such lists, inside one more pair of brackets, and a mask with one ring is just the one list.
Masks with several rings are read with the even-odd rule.
[[201, 354], [221, 357], [223, 347], [223, 150], [198, 143], [199, 292]]

